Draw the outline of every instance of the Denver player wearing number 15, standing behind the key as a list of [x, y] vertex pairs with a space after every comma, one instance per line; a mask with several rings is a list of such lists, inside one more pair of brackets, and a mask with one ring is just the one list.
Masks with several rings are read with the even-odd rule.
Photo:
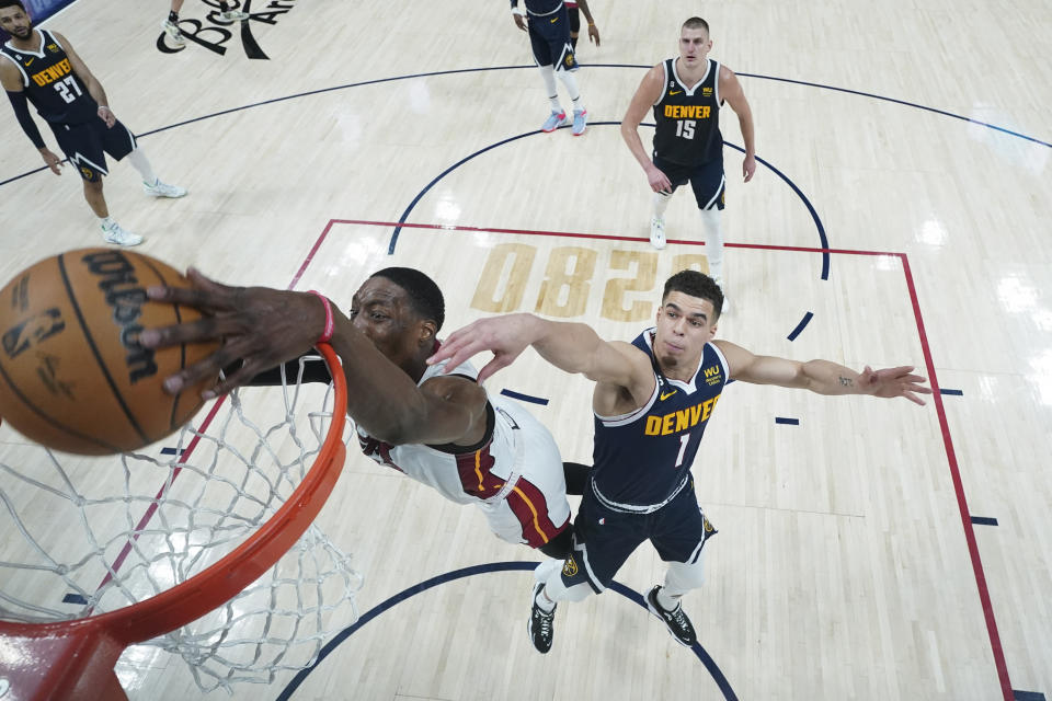
[[[709, 274], [723, 288], [720, 211], [727, 179], [720, 107], [724, 102], [737, 114], [745, 140], [742, 175], [746, 183], [756, 171], [756, 148], [753, 113], [742, 85], [734, 71], [708, 58], [711, 49], [708, 23], [701, 18], [684, 22], [679, 30], [679, 57], [670, 58], [647, 72], [621, 120], [621, 137], [654, 191], [651, 244], [665, 248], [665, 209], [676, 187], [689, 181], [705, 225]], [[639, 124], [651, 108], [656, 129], [653, 153], [648, 154], [639, 138]], [[723, 292], [727, 294], [725, 288]]]

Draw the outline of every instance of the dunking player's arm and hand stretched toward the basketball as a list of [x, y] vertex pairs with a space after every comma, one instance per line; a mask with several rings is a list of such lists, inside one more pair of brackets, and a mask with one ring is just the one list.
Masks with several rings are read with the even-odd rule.
[[[218, 377], [242, 361], [206, 399], [245, 384], [285, 360], [299, 357], [321, 337], [325, 308], [313, 295], [265, 287], [228, 287], [191, 269], [191, 287], [152, 287], [151, 299], [195, 307], [203, 319], [139, 335], [147, 347], [220, 341], [215, 354], [164, 380], [164, 389]], [[387, 359], [351, 321], [332, 309], [332, 347], [343, 359], [347, 414], [370, 435], [392, 445], [470, 443], [485, 423], [485, 390], [464, 378], [441, 378], [423, 387]]]

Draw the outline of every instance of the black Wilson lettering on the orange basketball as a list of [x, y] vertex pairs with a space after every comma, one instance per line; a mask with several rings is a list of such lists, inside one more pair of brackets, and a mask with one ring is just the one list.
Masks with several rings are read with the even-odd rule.
[[121, 327], [121, 345], [128, 354], [128, 381], [133, 384], [146, 377], [157, 375], [153, 349], [144, 348], [137, 338], [142, 326], [142, 304], [147, 301], [146, 289], [135, 277], [135, 266], [119, 251], [90, 253], [81, 258], [92, 275], [99, 275], [99, 289], [106, 296], [106, 306], [113, 310], [113, 320]]

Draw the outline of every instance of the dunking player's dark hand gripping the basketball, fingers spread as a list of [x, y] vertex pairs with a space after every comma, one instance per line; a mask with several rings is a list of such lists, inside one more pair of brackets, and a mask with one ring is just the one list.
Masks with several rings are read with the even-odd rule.
[[187, 272], [191, 287], [150, 287], [150, 299], [186, 304], [205, 317], [174, 326], [146, 329], [139, 343], [148, 348], [181, 343], [218, 341], [214, 354], [164, 380], [164, 390], [179, 393], [184, 387], [215, 378], [239, 360], [241, 368], [205, 399], [229, 392], [260, 372], [307, 353], [321, 337], [325, 310], [309, 292], [290, 292], [267, 287], [229, 287], [208, 279], [198, 271]]

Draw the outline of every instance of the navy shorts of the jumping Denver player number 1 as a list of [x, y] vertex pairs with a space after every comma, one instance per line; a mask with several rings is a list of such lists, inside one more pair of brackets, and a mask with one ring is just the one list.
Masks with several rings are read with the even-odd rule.
[[645, 540], [665, 562], [696, 564], [705, 542], [717, 533], [698, 506], [693, 479], [653, 514], [611, 510], [595, 497], [590, 482], [573, 529], [574, 550], [563, 565], [562, 582], [568, 588], [586, 582], [596, 593], [610, 585], [625, 561]]

